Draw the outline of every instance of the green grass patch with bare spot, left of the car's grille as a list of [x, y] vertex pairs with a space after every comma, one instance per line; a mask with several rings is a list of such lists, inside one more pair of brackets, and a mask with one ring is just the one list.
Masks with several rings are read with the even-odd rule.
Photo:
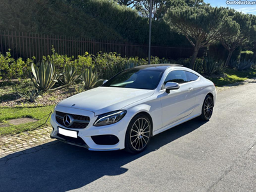
[[[36, 122], [27, 124], [10, 125], [9, 127], [0, 127], [0, 137], [8, 134], [17, 134], [24, 131], [32, 131], [38, 127], [47, 127], [50, 125], [50, 118], [47, 120], [48, 114], [53, 111], [54, 106], [44, 107], [17, 107], [17, 108], [0, 108], [0, 122], [8, 124], [7, 120], [13, 118], [29, 117], [36, 119]], [[47, 120], [46, 124], [45, 121]]]

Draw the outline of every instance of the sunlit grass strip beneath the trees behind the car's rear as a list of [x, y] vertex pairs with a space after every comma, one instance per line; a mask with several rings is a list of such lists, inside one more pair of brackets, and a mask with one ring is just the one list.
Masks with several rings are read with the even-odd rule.
[[225, 77], [207, 77], [207, 79], [210, 79], [216, 86], [239, 83], [246, 79], [256, 77], [256, 68], [250, 68], [244, 71], [237, 71], [231, 68], [227, 68], [224, 74]]

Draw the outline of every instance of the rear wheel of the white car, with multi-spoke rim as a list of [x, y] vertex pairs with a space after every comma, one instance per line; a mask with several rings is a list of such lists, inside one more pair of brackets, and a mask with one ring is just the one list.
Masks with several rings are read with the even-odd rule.
[[204, 121], [210, 120], [213, 112], [213, 99], [210, 95], [207, 95], [204, 99], [202, 106], [202, 114], [200, 118]]

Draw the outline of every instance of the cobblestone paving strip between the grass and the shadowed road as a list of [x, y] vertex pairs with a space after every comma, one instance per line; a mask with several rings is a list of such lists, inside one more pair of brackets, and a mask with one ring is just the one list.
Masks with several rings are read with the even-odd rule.
[[51, 131], [52, 127], [47, 127], [0, 138], [0, 157], [52, 141]]

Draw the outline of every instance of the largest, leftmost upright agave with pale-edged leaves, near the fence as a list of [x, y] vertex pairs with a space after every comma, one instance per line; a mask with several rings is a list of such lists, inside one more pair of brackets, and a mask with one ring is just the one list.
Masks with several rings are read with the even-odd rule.
[[[54, 65], [49, 61], [42, 61], [39, 67], [34, 67], [34, 63], [31, 64], [31, 70], [33, 77], [31, 76], [31, 81], [35, 85], [36, 89], [42, 91], [56, 90], [52, 89], [54, 84], [58, 82], [59, 77], [62, 74], [57, 74]], [[58, 88], [62, 88], [60, 86]]]

